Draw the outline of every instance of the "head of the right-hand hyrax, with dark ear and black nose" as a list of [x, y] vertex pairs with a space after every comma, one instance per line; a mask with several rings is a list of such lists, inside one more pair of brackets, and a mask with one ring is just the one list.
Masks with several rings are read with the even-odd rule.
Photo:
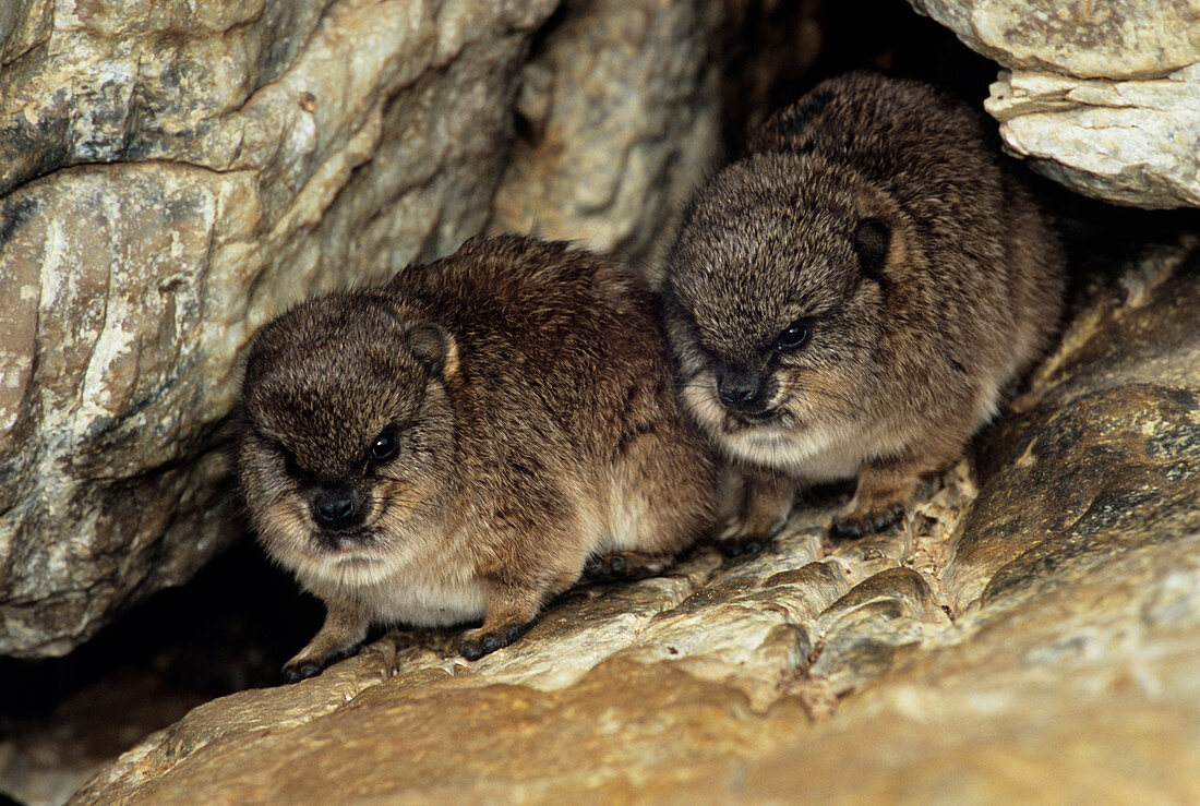
[[779, 434], [794, 455], [799, 432], [828, 440], [870, 409], [899, 221], [857, 174], [794, 154], [697, 194], [667, 260], [668, 337], [685, 404], [727, 450], [770, 463]]

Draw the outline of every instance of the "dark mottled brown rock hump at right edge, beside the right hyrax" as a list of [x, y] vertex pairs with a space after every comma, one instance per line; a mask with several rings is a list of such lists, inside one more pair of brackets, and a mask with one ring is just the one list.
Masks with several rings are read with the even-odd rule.
[[1198, 266], [1165, 251], [1129, 271], [984, 440], [982, 470], [996, 477], [944, 571], [955, 609], [1020, 589], [1042, 563], [1082, 575], [1108, 553], [1200, 530]]

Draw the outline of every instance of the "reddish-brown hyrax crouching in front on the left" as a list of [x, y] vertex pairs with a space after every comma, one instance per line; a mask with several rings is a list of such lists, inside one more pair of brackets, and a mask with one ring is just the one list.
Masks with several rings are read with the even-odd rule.
[[240, 480], [268, 553], [328, 609], [287, 679], [372, 622], [482, 619], [460, 646], [474, 660], [581, 576], [661, 570], [715, 495], [671, 379], [648, 287], [523, 237], [472, 240], [266, 325], [246, 363]]

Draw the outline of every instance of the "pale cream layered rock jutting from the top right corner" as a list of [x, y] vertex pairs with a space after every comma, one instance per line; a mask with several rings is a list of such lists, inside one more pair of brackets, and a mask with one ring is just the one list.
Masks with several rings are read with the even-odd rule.
[[910, 2], [1009, 68], [985, 107], [1036, 170], [1118, 204], [1200, 206], [1200, 6]]

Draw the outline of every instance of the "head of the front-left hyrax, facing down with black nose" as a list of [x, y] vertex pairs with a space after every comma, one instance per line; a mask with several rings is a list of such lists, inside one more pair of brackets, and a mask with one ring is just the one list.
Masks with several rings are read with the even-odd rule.
[[319, 297], [263, 327], [238, 464], [268, 552], [317, 576], [402, 560], [450, 485], [456, 363], [444, 330], [380, 293]]

